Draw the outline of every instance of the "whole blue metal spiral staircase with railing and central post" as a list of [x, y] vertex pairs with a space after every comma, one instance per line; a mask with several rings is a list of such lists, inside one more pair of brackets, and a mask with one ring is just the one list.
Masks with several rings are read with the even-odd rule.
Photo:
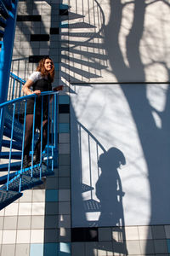
[[[20, 92], [25, 81], [18, 78], [13, 73], [10, 73], [9, 70], [12, 51], [8, 53], [8, 49], [10, 49], [10, 44], [12, 48], [14, 45], [14, 29], [12, 26], [14, 27], [14, 22], [16, 20], [17, 2], [18, 0], [0, 0], [0, 210], [7, 207], [13, 201], [19, 199], [20, 196], [23, 195], [24, 190], [31, 189], [42, 184], [42, 177], [53, 175], [58, 154], [57, 92], [43, 92], [41, 94], [42, 102], [44, 96], [48, 96], [48, 102], [49, 98], [52, 97], [52, 102], [48, 103], [48, 143], [44, 151], [42, 151], [41, 148], [40, 161], [34, 163], [34, 147], [37, 142], [37, 138], [42, 134], [42, 131], [41, 133], [40, 131], [36, 131], [35, 133], [33, 132], [30, 152], [31, 166], [26, 168], [23, 167], [26, 103], [29, 98], [34, 98], [35, 113], [37, 96], [21, 96]], [[8, 37], [9, 31], [13, 32], [10, 37]], [[6, 65], [6, 62], [8, 62], [8, 66]], [[6, 82], [4, 82], [4, 73], [7, 77]], [[3, 91], [8, 88], [9, 79], [10, 84], [12, 81], [12, 87], [7, 91], [5, 97], [5, 93], [3, 94]], [[19, 84], [19, 86], [17, 87], [16, 84]], [[14, 91], [18, 92], [19, 97], [14, 98]], [[49, 119], [51, 120], [50, 122]], [[35, 131], [35, 119], [33, 121], [32, 130]]]

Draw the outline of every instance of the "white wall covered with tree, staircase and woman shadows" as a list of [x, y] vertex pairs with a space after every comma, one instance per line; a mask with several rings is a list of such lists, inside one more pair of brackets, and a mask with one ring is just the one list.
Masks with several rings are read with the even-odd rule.
[[73, 226], [169, 224], [169, 17], [162, 1], [71, 0]]

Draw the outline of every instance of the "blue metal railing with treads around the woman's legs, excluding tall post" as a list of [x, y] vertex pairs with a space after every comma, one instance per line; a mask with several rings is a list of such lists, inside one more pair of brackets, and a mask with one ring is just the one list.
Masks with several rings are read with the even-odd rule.
[[[7, 152], [1, 152], [1, 159], [8, 159], [8, 164], [3, 164], [0, 166], [1, 173], [7, 171], [6, 175], [0, 177], [0, 183], [3, 186], [0, 187], [0, 209], [8, 205], [8, 201], [14, 201], [17, 199], [18, 195], [21, 196], [21, 191], [24, 189], [30, 189], [37, 184], [42, 183], [42, 177], [51, 175], [54, 173], [54, 159], [57, 158], [57, 101], [58, 101], [58, 92], [47, 91], [42, 92], [42, 113], [43, 113], [43, 98], [44, 96], [48, 97], [48, 139], [45, 150], [42, 151], [42, 115], [41, 115], [41, 131], [35, 132], [35, 122], [36, 119], [33, 119], [33, 128], [32, 128], [32, 141], [31, 141], [31, 166], [24, 168], [24, 139], [26, 132], [26, 106], [27, 101], [30, 98], [34, 98], [34, 117], [36, 116], [36, 99], [37, 95], [33, 94], [30, 96], [22, 96], [17, 99], [4, 102], [0, 104], [0, 122], [4, 116], [4, 133], [3, 138], [8, 137], [8, 140], [5, 139], [3, 142], [6, 147], [8, 147]], [[24, 109], [23, 109], [24, 105]], [[22, 106], [19, 108], [18, 106]], [[16, 119], [16, 113], [24, 110], [24, 119], [23, 124], [20, 123], [19, 119]], [[40, 160], [37, 163], [34, 163], [34, 148], [37, 142], [37, 138], [41, 137], [41, 151], [40, 151]], [[15, 148], [17, 148], [16, 151]], [[14, 149], [14, 150], [13, 150]], [[20, 162], [13, 162], [13, 159], [20, 159]], [[11, 191], [14, 192], [11, 195]], [[16, 192], [18, 193], [16, 195]], [[3, 194], [2, 194], [3, 193]], [[2, 199], [4, 193], [8, 195], [7, 200]], [[14, 200], [12, 200], [14, 199]]]

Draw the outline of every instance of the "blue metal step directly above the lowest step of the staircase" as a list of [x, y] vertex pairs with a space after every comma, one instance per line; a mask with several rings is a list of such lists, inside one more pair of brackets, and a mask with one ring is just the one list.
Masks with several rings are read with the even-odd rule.
[[[21, 183], [21, 186], [20, 186]], [[8, 189], [12, 191], [22, 191], [26, 189], [31, 189], [33, 187], [36, 187], [38, 185], [41, 185], [43, 182], [42, 180], [36, 178], [36, 177], [30, 177], [25, 174], [18, 174], [14, 178], [12, 178], [8, 182]], [[4, 184], [1, 189], [7, 189], [7, 183]]]

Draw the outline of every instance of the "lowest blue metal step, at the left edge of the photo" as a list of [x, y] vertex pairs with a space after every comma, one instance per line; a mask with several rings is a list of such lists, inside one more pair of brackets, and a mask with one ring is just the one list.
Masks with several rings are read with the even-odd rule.
[[22, 196], [22, 193], [15, 192], [15, 191], [6, 191], [3, 189], [0, 189], [0, 210], [2, 210], [4, 207], [7, 207], [9, 204], [14, 202], [15, 200], [19, 199], [20, 196]]

